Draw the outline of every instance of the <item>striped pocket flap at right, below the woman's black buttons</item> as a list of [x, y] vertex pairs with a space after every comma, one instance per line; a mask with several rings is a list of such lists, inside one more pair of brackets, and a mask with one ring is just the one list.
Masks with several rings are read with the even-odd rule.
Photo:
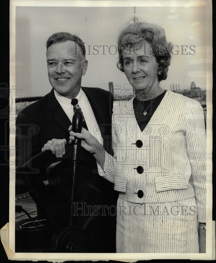
[[187, 188], [187, 180], [183, 175], [166, 175], [155, 177], [155, 188], [157, 192]]

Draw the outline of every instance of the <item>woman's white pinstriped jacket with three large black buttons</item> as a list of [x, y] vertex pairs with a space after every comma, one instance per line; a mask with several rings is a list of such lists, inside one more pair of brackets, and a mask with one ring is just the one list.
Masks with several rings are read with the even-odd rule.
[[206, 133], [199, 102], [167, 91], [141, 132], [131, 99], [120, 103], [112, 125], [114, 157], [105, 154], [100, 174], [115, 184], [119, 198], [142, 204], [195, 196], [198, 221], [206, 222]]

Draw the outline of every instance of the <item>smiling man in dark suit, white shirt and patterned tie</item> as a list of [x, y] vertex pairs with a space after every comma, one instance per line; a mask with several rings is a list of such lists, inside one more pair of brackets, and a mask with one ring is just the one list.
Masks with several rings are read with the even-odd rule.
[[[46, 47], [48, 76], [53, 89], [42, 99], [26, 107], [18, 115], [16, 125], [22, 136], [28, 135], [31, 125], [37, 127], [38, 132], [31, 135], [31, 157], [42, 149], [50, 150], [59, 158], [59, 162], [32, 176], [32, 183], [56, 223], [64, 229], [69, 223], [72, 162], [61, 161], [61, 158], [69, 140], [68, 129], [74, 114], [72, 103], [74, 99], [78, 99], [78, 103], [75, 103], [78, 106], [75, 107], [81, 109], [87, 129], [112, 153], [110, 142], [113, 101], [108, 91], [81, 87], [88, 61], [85, 59], [84, 43], [79, 37], [65, 32], [55, 33], [49, 37]], [[20, 158], [19, 162], [22, 163]], [[75, 200], [78, 203], [75, 208], [77, 216], [73, 217], [73, 222], [77, 227], [88, 222], [86, 252], [115, 252], [115, 216], [108, 215], [109, 209], [105, 213], [103, 209], [116, 205], [117, 196], [113, 184], [99, 176], [97, 163], [91, 153], [81, 148], [80, 159]], [[103, 210], [102, 213], [106, 216], [91, 217], [94, 206], [99, 206], [99, 211]], [[39, 206], [38, 217], [45, 217]]]

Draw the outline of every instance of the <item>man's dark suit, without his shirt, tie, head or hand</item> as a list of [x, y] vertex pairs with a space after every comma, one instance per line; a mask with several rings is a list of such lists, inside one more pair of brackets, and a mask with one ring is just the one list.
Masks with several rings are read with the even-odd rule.
[[[104, 148], [112, 153], [111, 148], [111, 114], [113, 100], [109, 92], [99, 88], [84, 88], [89, 103], [91, 104], [95, 118], [104, 139]], [[85, 117], [86, 118], [86, 117]], [[31, 156], [21, 153], [22, 158], [18, 161], [24, 163], [34, 155], [41, 152], [41, 148], [48, 140], [53, 138], [69, 140], [68, 128], [70, 120], [56, 100], [54, 90], [45, 95], [42, 99], [26, 107], [21, 115], [17, 116], [17, 127], [20, 128], [20, 135], [29, 135], [31, 132]], [[34, 127], [31, 131], [30, 127]], [[28, 152], [29, 153], [29, 152]], [[94, 172], [93, 172], [94, 171]], [[32, 176], [32, 183], [35, 185], [47, 209], [50, 211], [57, 224], [64, 229], [69, 222], [69, 194], [71, 185], [72, 169], [71, 161], [64, 160], [47, 175], [44, 172]], [[113, 184], [102, 178], [97, 173], [97, 164], [93, 155], [81, 148], [81, 160], [78, 166], [77, 194], [76, 200], [79, 204], [75, 216], [75, 224], [82, 226], [89, 216], [86, 205], [116, 205], [116, 192]], [[85, 209], [84, 209], [85, 207]], [[85, 211], [84, 211], [85, 210]], [[91, 213], [91, 212], [90, 212]], [[81, 215], [82, 214], [82, 215]], [[107, 213], [106, 213], [107, 214]], [[38, 207], [38, 216], [43, 213]], [[115, 246], [115, 216], [95, 216], [87, 228], [86, 242], [90, 252], [114, 252]], [[104, 242], [107, 240], [108, 244]], [[103, 249], [101, 244], [103, 244]], [[100, 245], [99, 245], [100, 244]], [[106, 250], [105, 247], [110, 250]], [[102, 249], [102, 251], [101, 251]], [[103, 251], [104, 250], [104, 251]]]

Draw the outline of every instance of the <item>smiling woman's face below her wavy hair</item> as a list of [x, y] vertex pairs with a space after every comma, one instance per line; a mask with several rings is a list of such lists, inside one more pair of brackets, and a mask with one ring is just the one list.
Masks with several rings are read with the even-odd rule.
[[124, 72], [134, 89], [156, 91], [158, 63], [149, 43], [123, 50]]

